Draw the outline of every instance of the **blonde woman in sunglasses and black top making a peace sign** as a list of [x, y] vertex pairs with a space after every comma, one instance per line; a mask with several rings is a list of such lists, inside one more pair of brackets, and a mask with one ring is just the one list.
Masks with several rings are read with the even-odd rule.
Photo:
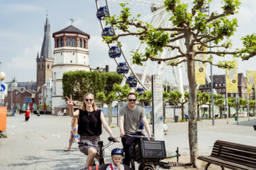
[[[100, 141], [100, 135], [102, 134], [102, 125], [105, 130], [117, 140], [110, 130], [108, 123], [106, 123], [105, 117], [100, 109], [97, 109], [94, 102], [94, 96], [91, 93], [85, 94], [83, 97], [83, 104], [81, 109], [73, 111], [72, 96], [68, 98], [68, 106], [70, 110], [70, 116], [79, 117], [78, 134], [80, 135], [80, 142], [90, 142], [91, 144], [98, 145]], [[94, 158], [100, 159], [100, 148], [93, 146], [79, 146], [79, 150], [87, 156], [86, 167], [93, 166]]]

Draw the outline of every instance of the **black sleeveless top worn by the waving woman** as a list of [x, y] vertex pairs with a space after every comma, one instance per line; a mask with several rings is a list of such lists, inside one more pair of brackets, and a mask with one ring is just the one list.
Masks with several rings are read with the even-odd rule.
[[102, 134], [102, 121], [100, 120], [100, 113], [102, 110], [98, 109], [88, 113], [79, 109], [79, 127], [78, 134], [85, 136], [95, 136]]

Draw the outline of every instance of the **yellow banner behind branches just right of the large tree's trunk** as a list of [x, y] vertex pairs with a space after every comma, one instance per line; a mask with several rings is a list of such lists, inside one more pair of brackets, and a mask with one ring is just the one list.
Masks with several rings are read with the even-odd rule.
[[[197, 47], [198, 47], [198, 45], [195, 46], [196, 49], [197, 49]], [[206, 48], [205, 48], [205, 51], [207, 51]], [[198, 54], [198, 55], [196, 55], [196, 59], [205, 61], [207, 59], [207, 55], [206, 54]], [[195, 73], [196, 73], [196, 84], [197, 85], [205, 84], [206, 63], [202, 63], [200, 61], [194, 61], [194, 67], [195, 67], [194, 69], [195, 69]]]

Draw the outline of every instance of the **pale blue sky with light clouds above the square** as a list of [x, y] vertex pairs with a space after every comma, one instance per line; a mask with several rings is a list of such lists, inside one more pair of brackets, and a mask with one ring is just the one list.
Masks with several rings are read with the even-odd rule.
[[[104, 0], [98, 0], [98, 2], [100, 6], [105, 4]], [[119, 13], [118, 3], [109, 2], [109, 5], [111, 13]], [[149, 7], [143, 5], [129, 5], [129, 7], [136, 15], [142, 13], [142, 17], [150, 12]], [[219, 7], [220, 0], [213, 0], [211, 11], [219, 11]], [[239, 13], [236, 15], [237, 32], [232, 37], [234, 49], [241, 47], [242, 36], [255, 32], [255, 8], [255, 0], [242, 0]], [[37, 53], [40, 55], [43, 43], [46, 13], [51, 26], [51, 34], [69, 26], [70, 18], [74, 19], [73, 25], [90, 35], [90, 67], [110, 65], [110, 71], [114, 71], [116, 63], [108, 57], [108, 47], [102, 42], [102, 28], [96, 18], [96, 11], [94, 0], [0, 0], [0, 62], [1, 72], [5, 72], [6, 75], [3, 82], [9, 82], [14, 77], [18, 82], [36, 81], [36, 58]], [[123, 38], [121, 42], [126, 56], [129, 56], [130, 51], [138, 44], [135, 38]], [[53, 38], [51, 38], [51, 45], [54, 51]], [[232, 57], [226, 57], [226, 59], [230, 61]], [[256, 57], [243, 62], [238, 59], [238, 72], [243, 72], [245, 76], [246, 70], [256, 70], [255, 65]], [[208, 72], [209, 68], [207, 65]], [[213, 67], [213, 74], [225, 74], [225, 71]]]

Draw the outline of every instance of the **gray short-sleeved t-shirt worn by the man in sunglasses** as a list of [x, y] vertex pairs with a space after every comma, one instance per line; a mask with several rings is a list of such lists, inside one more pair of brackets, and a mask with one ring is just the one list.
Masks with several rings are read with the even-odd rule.
[[119, 116], [124, 117], [124, 130], [127, 134], [134, 134], [140, 126], [140, 119], [146, 117], [143, 107], [137, 106], [131, 111], [128, 105], [121, 107]]

